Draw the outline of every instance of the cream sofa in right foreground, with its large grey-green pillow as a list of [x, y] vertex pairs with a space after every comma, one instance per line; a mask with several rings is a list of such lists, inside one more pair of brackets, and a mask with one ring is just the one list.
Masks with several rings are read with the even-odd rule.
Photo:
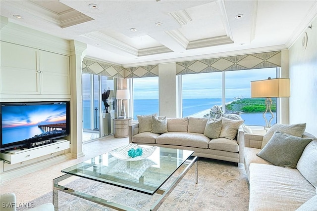
[[[295, 130], [292, 128], [290, 133]], [[307, 132], [302, 134], [298, 134], [300, 138], [297, 138], [283, 131], [275, 131], [266, 145], [266, 134], [245, 134], [244, 161], [250, 183], [249, 211], [317, 211], [317, 138]], [[271, 142], [274, 137], [276, 141]], [[304, 145], [297, 145], [299, 141], [304, 141]], [[276, 142], [278, 144], [272, 145]], [[270, 149], [275, 153], [267, 153]], [[267, 160], [262, 158], [264, 153], [270, 156], [266, 157]], [[295, 154], [298, 154], [298, 161], [288, 157]], [[283, 164], [284, 156], [286, 163]]]

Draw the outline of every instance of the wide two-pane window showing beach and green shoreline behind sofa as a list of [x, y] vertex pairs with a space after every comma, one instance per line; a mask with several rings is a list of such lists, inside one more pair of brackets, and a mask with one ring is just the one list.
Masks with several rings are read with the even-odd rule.
[[[226, 114], [239, 114], [245, 125], [264, 126], [265, 99], [250, 98], [250, 82], [268, 77], [276, 78], [276, 68], [182, 75], [182, 116], [211, 117], [211, 107], [218, 105]], [[271, 125], [276, 123], [276, 98], [272, 101]]]

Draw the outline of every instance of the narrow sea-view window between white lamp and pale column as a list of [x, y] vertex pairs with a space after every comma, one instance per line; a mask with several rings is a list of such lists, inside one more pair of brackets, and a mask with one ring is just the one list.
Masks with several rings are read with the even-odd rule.
[[159, 77], [133, 79], [133, 119], [159, 113]]

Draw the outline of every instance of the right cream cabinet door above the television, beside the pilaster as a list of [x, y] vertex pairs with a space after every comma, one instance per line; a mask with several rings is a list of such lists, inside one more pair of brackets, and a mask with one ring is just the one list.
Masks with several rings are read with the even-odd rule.
[[69, 56], [39, 51], [41, 94], [70, 94]]

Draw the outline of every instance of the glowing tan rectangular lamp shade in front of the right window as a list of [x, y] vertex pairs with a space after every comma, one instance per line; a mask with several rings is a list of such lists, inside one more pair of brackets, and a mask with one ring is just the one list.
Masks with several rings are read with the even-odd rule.
[[290, 97], [290, 80], [278, 78], [252, 81], [251, 97]]

